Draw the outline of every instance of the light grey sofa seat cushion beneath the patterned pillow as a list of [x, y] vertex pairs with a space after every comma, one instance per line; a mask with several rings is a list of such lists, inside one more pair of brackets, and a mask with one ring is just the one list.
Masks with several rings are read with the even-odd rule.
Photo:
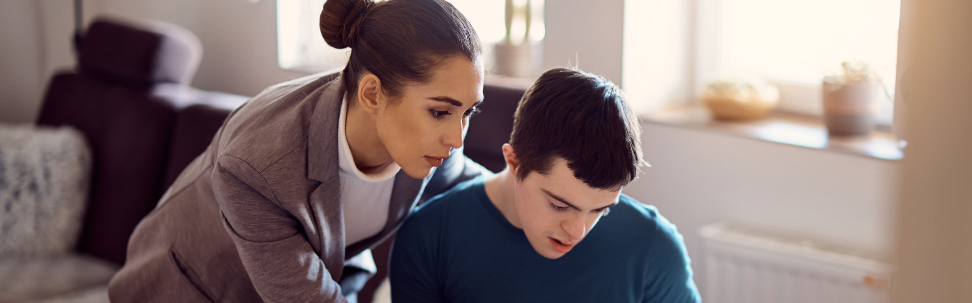
[[[0, 258], [0, 302], [107, 297], [97, 289], [108, 285], [118, 269], [118, 265], [81, 254]], [[86, 294], [88, 290], [96, 293]]]

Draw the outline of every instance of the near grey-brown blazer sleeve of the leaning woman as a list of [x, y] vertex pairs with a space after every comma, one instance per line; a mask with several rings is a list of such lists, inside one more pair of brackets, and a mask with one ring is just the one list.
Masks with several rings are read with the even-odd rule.
[[212, 180], [226, 232], [264, 302], [347, 302], [259, 172], [224, 155]]

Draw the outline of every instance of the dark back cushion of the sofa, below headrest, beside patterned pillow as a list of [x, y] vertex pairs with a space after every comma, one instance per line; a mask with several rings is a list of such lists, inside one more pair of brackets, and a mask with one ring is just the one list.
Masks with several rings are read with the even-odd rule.
[[79, 251], [124, 262], [128, 236], [164, 189], [174, 120], [175, 107], [145, 90], [84, 74], [52, 79], [38, 124], [77, 128], [94, 159]]

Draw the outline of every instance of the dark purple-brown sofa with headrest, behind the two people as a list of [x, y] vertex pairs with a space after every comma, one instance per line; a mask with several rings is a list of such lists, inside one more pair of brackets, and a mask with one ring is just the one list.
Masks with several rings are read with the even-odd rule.
[[[75, 70], [52, 78], [37, 123], [79, 129], [93, 154], [78, 253], [123, 263], [135, 225], [205, 150], [229, 112], [247, 100], [188, 85], [201, 57], [199, 45], [191, 33], [170, 24], [100, 18], [79, 43]], [[501, 146], [527, 85], [487, 82], [482, 114], [469, 126], [469, 158], [503, 169]], [[373, 250], [378, 274], [359, 294], [360, 302], [370, 302], [385, 277], [389, 247]]]

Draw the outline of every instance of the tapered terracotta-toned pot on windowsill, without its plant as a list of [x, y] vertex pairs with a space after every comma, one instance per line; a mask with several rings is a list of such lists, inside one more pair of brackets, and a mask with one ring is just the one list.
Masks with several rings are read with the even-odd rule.
[[874, 129], [874, 115], [883, 96], [881, 84], [824, 81], [822, 89], [823, 117], [830, 135], [863, 136]]

